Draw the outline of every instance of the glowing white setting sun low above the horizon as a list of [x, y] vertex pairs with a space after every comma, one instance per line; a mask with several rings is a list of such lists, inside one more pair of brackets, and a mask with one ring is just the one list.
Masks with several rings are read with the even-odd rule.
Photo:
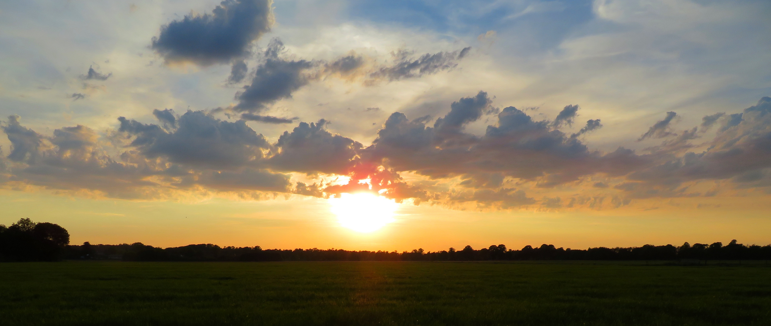
[[379, 230], [394, 221], [398, 203], [372, 193], [342, 193], [329, 199], [330, 210], [343, 227], [362, 233]]

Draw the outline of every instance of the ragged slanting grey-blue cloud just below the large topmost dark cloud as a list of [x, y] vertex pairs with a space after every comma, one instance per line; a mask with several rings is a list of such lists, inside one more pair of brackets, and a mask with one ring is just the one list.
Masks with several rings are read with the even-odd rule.
[[279, 99], [291, 98], [292, 92], [308, 84], [308, 76], [303, 72], [315, 64], [305, 60], [280, 59], [278, 53], [281, 49], [284, 49], [284, 45], [278, 39], [268, 45], [266, 59], [257, 67], [251, 85], [237, 94], [238, 104], [233, 108], [235, 111], [261, 112]]

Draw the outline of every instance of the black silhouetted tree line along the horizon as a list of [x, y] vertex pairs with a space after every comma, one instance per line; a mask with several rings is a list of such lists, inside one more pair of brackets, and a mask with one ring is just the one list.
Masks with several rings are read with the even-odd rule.
[[641, 247], [594, 247], [571, 249], [542, 244], [508, 249], [503, 244], [479, 250], [369, 251], [342, 249], [262, 249], [255, 247], [220, 247], [215, 244], [190, 244], [183, 247], [153, 247], [134, 244], [69, 245], [69, 234], [53, 223], [34, 223], [22, 219], [11, 227], [0, 224], [0, 261], [28, 260], [127, 260], [127, 261], [452, 261], [452, 260], [771, 260], [771, 245], [672, 244]]

